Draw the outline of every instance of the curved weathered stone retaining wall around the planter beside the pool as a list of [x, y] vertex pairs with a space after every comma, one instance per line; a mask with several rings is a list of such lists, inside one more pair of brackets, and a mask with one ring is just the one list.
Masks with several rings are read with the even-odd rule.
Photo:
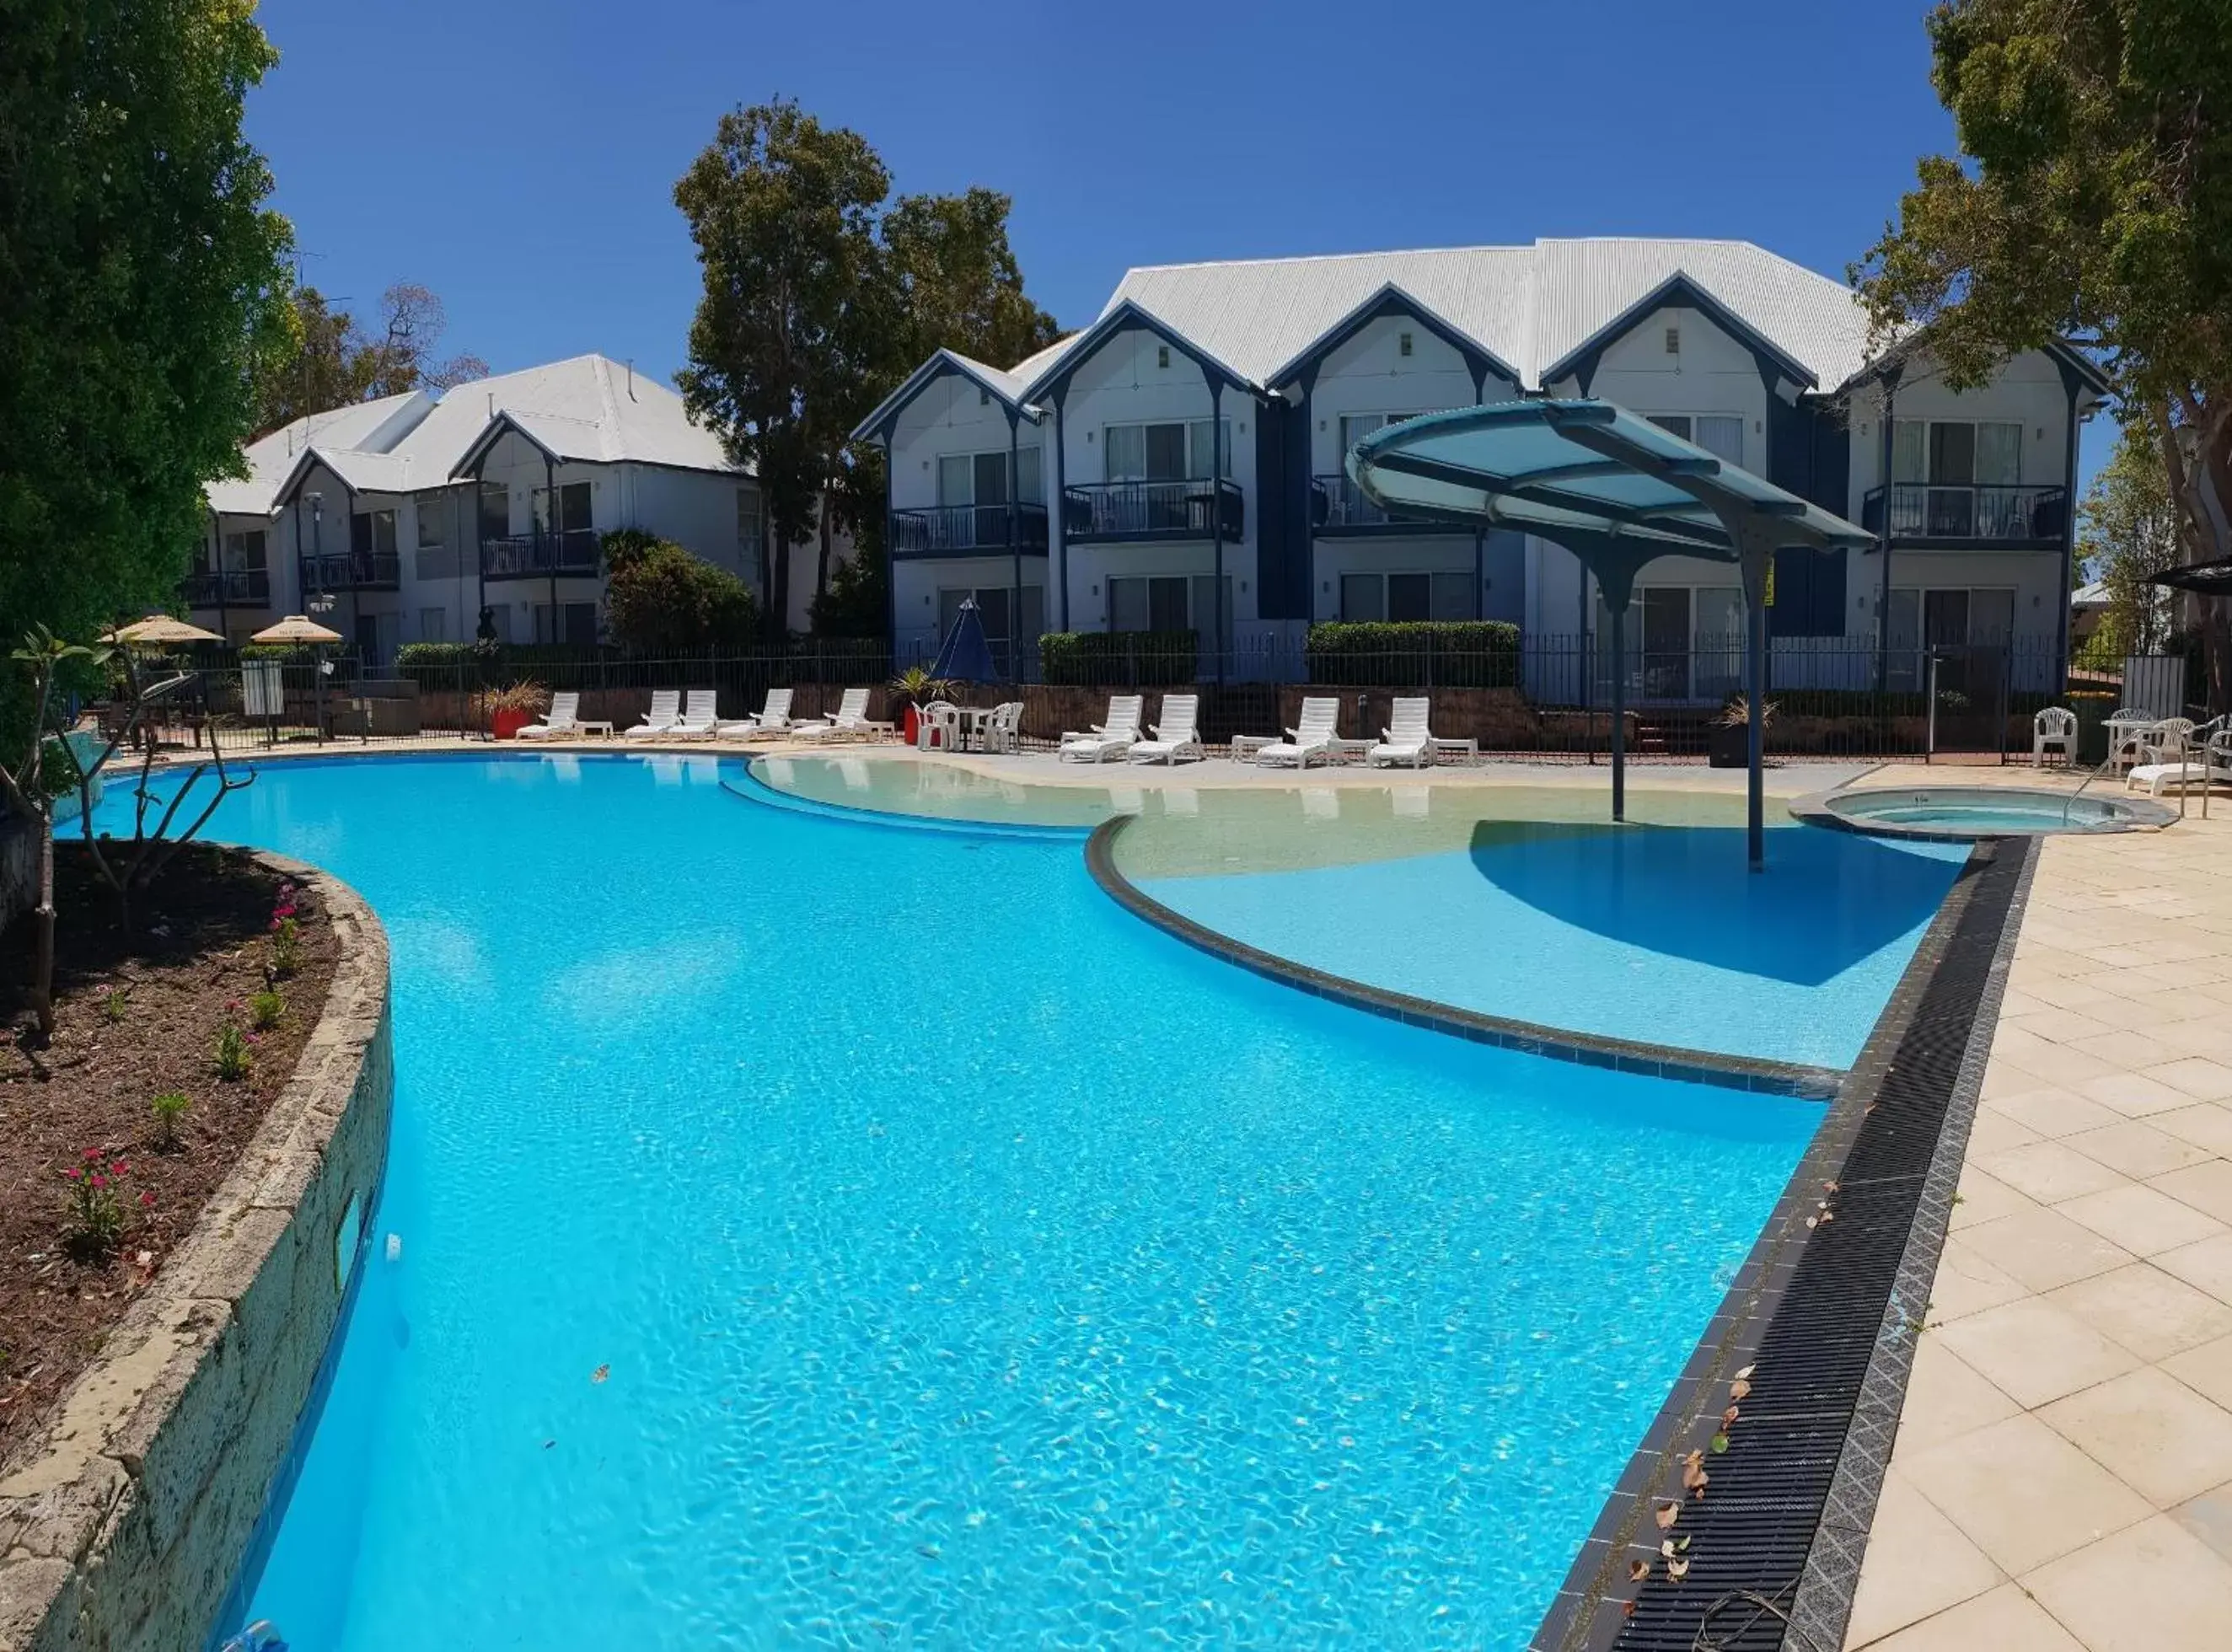
[[185, 1246], [0, 1464], [0, 1652], [201, 1652], [335, 1333], [350, 1203], [373, 1221], [395, 1083], [386, 935], [346, 884], [263, 859], [330, 913], [333, 991]]

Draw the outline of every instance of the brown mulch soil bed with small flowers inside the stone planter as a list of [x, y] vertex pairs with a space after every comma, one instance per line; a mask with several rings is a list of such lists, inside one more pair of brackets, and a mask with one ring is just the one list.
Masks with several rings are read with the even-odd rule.
[[[127, 933], [92, 859], [56, 846], [56, 1031], [31, 1034], [31, 920], [0, 935], [0, 1460], [38, 1431], [132, 1299], [192, 1232], [295, 1074], [333, 985], [333, 926], [297, 891], [299, 969], [277, 980], [283, 880], [237, 851], [192, 844], [134, 904]], [[254, 1034], [246, 1078], [217, 1074], [217, 1038], [250, 1031], [252, 993], [286, 1000]], [[150, 1103], [183, 1092], [172, 1141]], [[98, 1147], [125, 1161], [112, 1255], [71, 1239], [67, 1172]], [[143, 1201], [154, 1194], [154, 1201]]]

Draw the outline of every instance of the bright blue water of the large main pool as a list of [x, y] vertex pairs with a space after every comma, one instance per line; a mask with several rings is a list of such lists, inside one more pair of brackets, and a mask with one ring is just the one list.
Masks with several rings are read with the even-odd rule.
[[1344, 1011], [1076, 844], [716, 777], [272, 763], [223, 806], [395, 964], [386, 1197], [252, 1612], [1522, 1645], [1819, 1107]]

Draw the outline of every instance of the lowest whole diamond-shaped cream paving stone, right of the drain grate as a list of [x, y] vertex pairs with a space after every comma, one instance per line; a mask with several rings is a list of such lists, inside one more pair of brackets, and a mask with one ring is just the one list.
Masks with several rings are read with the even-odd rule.
[[1899, 1467], [1969, 1543], [2011, 1574], [2152, 1514], [2132, 1487], [2031, 1415], [1971, 1429]]

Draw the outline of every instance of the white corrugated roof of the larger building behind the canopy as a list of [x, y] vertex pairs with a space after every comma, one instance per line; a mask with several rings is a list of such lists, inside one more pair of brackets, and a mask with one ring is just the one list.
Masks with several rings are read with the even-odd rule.
[[[1750, 241], [1582, 239], [1149, 266], [1125, 275], [1103, 315], [1129, 299], [1263, 384], [1395, 286], [1518, 368], [1524, 388], [1540, 388], [1545, 368], [1674, 277], [1806, 366], [1824, 391], [1866, 359], [1868, 321], [1853, 290]], [[1038, 377], [1051, 359], [1040, 353], [1016, 373]]]

